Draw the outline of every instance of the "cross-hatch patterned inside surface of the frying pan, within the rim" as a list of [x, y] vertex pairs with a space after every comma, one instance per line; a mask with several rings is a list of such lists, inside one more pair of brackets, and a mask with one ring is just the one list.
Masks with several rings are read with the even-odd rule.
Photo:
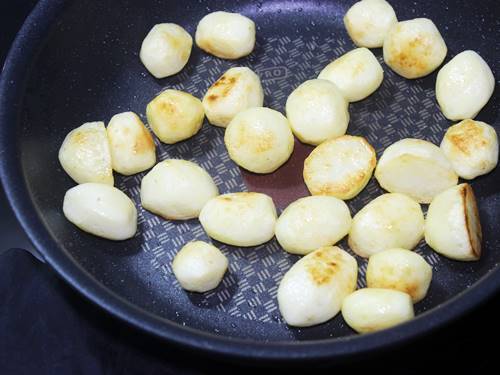
[[[298, 259], [280, 249], [276, 240], [257, 248], [235, 248], [216, 243], [229, 258], [229, 273], [221, 286], [205, 294], [185, 293], [171, 272], [171, 261], [180, 247], [193, 239], [208, 240], [198, 221], [163, 220], [140, 208], [139, 187], [144, 173], [116, 175], [116, 186], [139, 208], [138, 235], [126, 242], [110, 242], [87, 235], [62, 215], [62, 198], [74, 183], [57, 161], [65, 135], [87, 121], [109, 121], [112, 115], [134, 111], [145, 120], [146, 104], [166, 88], [202, 97], [225, 70], [248, 66], [261, 77], [265, 106], [284, 112], [286, 98], [300, 83], [316, 78], [331, 60], [355, 46], [347, 36], [342, 17], [350, 1], [112, 1], [68, 4], [54, 24], [28, 78], [19, 124], [19, 152], [26, 181], [38, 213], [61, 248], [95, 279], [120, 297], [181, 325], [221, 336], [255, 340], [310, 340], [351, 335], [340, 316], [307, 329], [283, 324], [276, 292], [286, 270]], [[464, 49], [474, 49], [498, 74], [497, 53], [488, 40], [498, 39], [494, 14], [468, 9], [472, 2], [440, 1], [393, 4], [399, 19], [432, 18], [448, 44], [448, 59]], [[492, 2], [493, 4], [493, 2]], [[487, 7], [484, 7], [486, 9]], [[254, 52], [237, 61], [209, 56], [197, 47], [185, 69], [162, 80], [142, 66], [138, 51], [142, 39], [156, 23], [178, 23], [194, 35], [197, 22], [215, 10], [241, 12], [257, 24]], [[462, 17], [467, 14], [467, 19]], [[495, 31], [496, 30], [496, 31]], [[496, 36], [495, 36], [496, 32]], [[483, 38], [484, 37], [484, 38]], [[490, 39], [491, 38], [491, 39]], [[498, 47], [496, 47], [498, 49]], [[383, 64], [384, 82], [368, 99], [350, 105], [348, 133], [362, 135], [378, 157], [391, 143], [415, 137], [439, 144], [451, 123], [435, 102], [436, 73], [406, 80]], [[499, 128], [498, 94], [478, 119]], [[176, 145], [157, 143], [159, 160], [193, 160], [214, 177], [222, 193], [257, 190], [273, 196], [280, 209], [304, 196], [302, 160], [312, 149], [297, 144], [292, 159], [276, 174], [243, 173], [229, 159], [223, 129], [206, 120], [193, 138]], [[500, 172], [496, 169], [472, 182], [479, 201], [484, 231], [480, 261], [460, 263], [433, 253], [423, 243], [417, 248], [432, 264], [434, 278], [429, 296], [416, 305], [427, 311], [468, 288], [499, 261], [498, 212]], [[382, 194], [372, 179], [348, 205], [355, 214]], [[345, 241], [341, 247], [348, 249]], [[358, 258], [359, 286], [364, 285], [366, 261]]]

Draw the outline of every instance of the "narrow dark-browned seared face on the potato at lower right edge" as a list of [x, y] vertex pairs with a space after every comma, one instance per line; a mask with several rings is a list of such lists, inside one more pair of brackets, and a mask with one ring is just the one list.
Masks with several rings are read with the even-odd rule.
[[460, 188], [464, 206], [465, 226], [472, 253], [479, 258], [481, 256], [481, 242], [483, 239], [479, 211], [477, 209], [476, 197], [469, 184], [463, 184]]

